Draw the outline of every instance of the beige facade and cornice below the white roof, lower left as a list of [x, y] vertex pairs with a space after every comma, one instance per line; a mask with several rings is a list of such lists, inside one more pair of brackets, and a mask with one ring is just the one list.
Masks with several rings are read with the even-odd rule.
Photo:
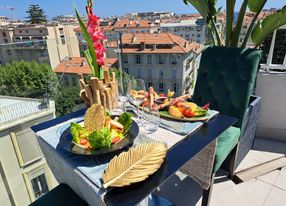
[[0, 205], [28, 205], [36, 199], [32, 181], [45, 177], [48, 189], [57, 182], [37, 144], [32, 125], [54, 118], [54, 109], [43, 110], [0, 125]]

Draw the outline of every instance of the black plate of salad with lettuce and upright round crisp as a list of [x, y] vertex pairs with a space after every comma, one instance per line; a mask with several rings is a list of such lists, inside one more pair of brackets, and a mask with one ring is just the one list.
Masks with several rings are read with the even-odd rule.
[[63, 132], [60, 144], [75, 154], [105, 154], [132, 144], [138, 133], [131, 114], [111, 116], [102, 105], [93, 104], [83, 121], [72, 122]]

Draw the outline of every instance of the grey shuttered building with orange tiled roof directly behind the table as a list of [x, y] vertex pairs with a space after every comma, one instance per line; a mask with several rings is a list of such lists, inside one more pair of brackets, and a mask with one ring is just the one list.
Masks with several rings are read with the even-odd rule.
[[158, 92], [191, 92], [203, 45], [171, 33], [128, 34], [122, 37], [122, 66]]

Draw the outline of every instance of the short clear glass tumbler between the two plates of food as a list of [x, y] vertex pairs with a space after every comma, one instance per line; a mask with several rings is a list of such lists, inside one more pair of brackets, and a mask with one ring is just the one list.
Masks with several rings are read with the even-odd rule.
[[145, 130], [149, 132], [157, 131], [161, 123], [158, 106], [154, 105], [154, 107], [152, 108], [149, 107], [144, 108], [143, 119], [145, 120], [144, 122]]

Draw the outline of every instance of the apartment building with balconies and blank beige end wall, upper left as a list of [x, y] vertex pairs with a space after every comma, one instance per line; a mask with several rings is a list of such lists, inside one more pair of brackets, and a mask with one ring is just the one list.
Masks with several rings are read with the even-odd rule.
[[54, 68], [63, 58], [80, 56], [72, 25], [0, 27], [0, 63], [36, 61]]

